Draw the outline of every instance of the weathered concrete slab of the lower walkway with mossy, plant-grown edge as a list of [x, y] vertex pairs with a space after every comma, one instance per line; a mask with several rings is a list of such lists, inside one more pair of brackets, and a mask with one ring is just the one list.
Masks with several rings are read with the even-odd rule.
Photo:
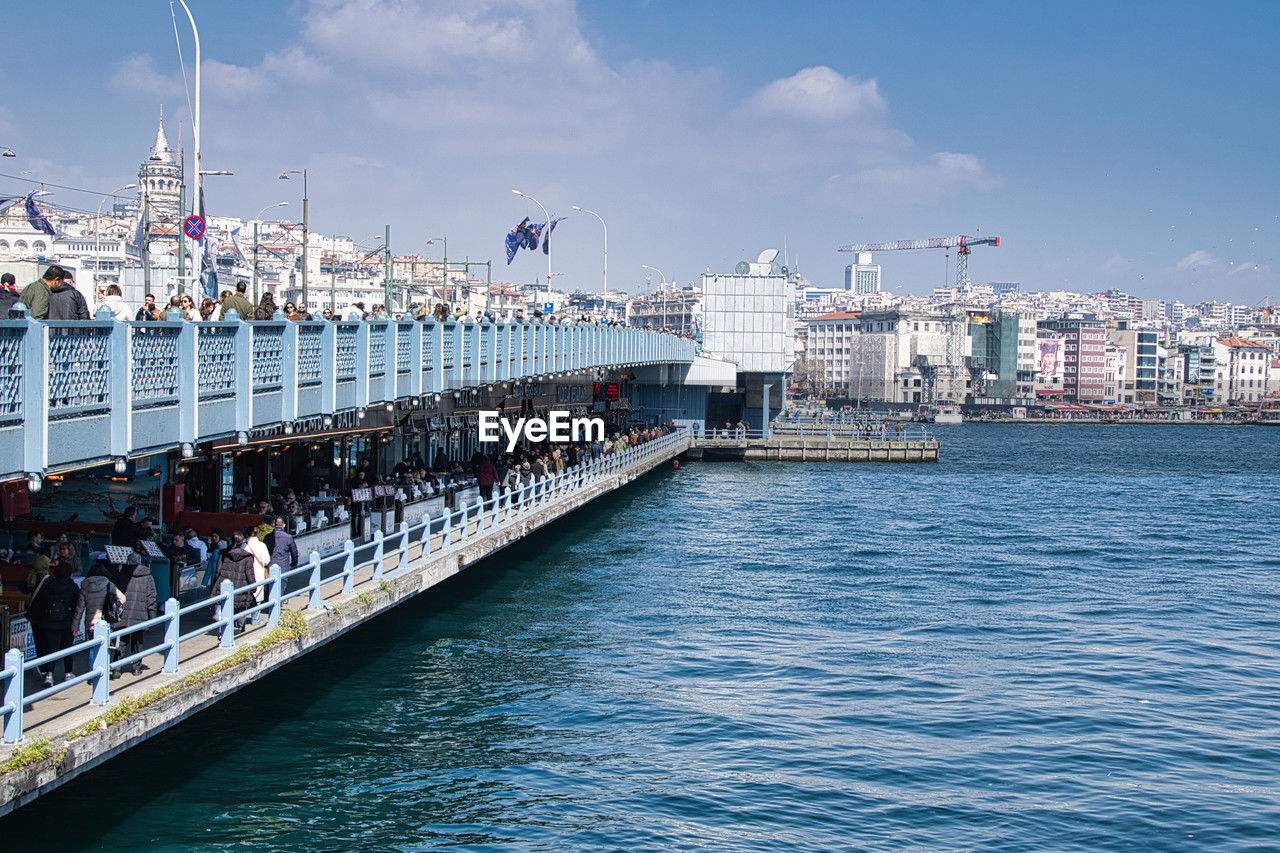
[[544, 482], [527, 503], [472, 506], [416, 529], [404, 525], [385, 540], [378, 537], [372, 557], [358, 564], [355, 549], [325, 557], [323, 571], [314, 557], [315, 592], [282, 601], [279, 624], [236, 637], [239, 648], [201, 634], [180, 644], [178, 672], [163, 672], [164, 656], [152, 654], [148, 674], [113, 684], [105, 706], [90, 704], [88, 683], [42, 699], [26, 715], [31, 725], [23, 727], [23, 743], [0, 747], [0, 815], [669, 462], [689, 441], [687, 433], [675, 433], [617, 459], [602, 457], [581, 473], [570, 469], [558, 484]]

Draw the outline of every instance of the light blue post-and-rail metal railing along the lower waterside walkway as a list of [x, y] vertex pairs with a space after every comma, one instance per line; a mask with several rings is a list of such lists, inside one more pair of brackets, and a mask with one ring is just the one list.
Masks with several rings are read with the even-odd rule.
[[[183, 660], [210, 651], [207, 642], [195, 643], [210, 631], [218, 633], [218, 647], [233, 649], [236, 648], [234, 628], [238, 620], [265, 612], [268, 626], [274, 628], [279, 624], [285, 605], [300, 598], [306, 599], [303, 610], [325, 610], [328, 599], [355, 593], [358, 573], [371, 570], [371, 575], [358, 585], [372, 584], [376, 587], [384, 578], [393, 578], [410, 569], [410, 551], [415, 547], [417, 548], [415, 558], [425, 560], [434, 560], [457, 551], [477, 537], [524, 521], [531, 512], [571, 501], [605, 478], [644, 467], [657, 456], [684, 450], [689, 446], [689, 439], [687, 429], [677, 429], [644, 444], [580, 462], [573, 467], [567, 467], [561, 474], [522, 483], [517, 489], [495, 494], [489, 501], [477, 498], [476, 503], [470, 506], [461, 503], [453, 508], [445, 507], [440, 515], [429, 515], [417, 524], [402, 523], [398, 529], [389, 534], [375, 530], [371, 543], [357, 544], [347, 539], [340, 551], [325, 557], [312, 551], [307, 562], [297, 569], [282, 571], [279, 566], [273, 564], [265, 580], [239, 588], [233, 587], [229, 580], [224, 580], [216, 594], [186, 607], [179, 606], [177, 598], [170, 598], [164, 603], [164, 612], [160, 616], [129, 628], [113, 629], [104, 620], [100, 620], [93, 625], [92, 637], [65, 649], [29, 661], [24, 660], [22, 651], [10, 649], [4, 657], [4, 669], [0, 670], [0, 697], [3, 697], [0, 698], [0, 722], [3, 722], [0, 740], [5, 744], [17, 744], [23, 740], [23, 712], [36, 702], [63, 693], [78, 684], [90, 683], [92, 695], [82, 702], [70, 703], [69, 707], [109, 704], [113, 671], [124, 670], [152, 654], [163, 654], [161, 672], [177, 675], [182, 671]], [[361, 552], [369, 556], [357, 560], [357, 553]], [[392, 558], [396, 560], [396, 566], [388, 573], [385, 564]], [[339, 579], [342, 580], [340, 588], [333, 589]], [[328, 594], [325, 594], [325, 587], [330, 587]], [[259, 589], [264, 590], [260, 603], [241, 611], [236, 610], [238, 593], [243, 594]], [[198, 615], [201, 611], [206, 611], [214, 617], [207, 621], [197, 617], [195, 620], [196, 628], [183, 633], [182, 617]], [[145, 634], [154, 628], [164, 629], [164, 639], [160, 643], [146, 647], [134, 654], [115, 661], [110, 660], [113, 642], [137, 633]], [[187, 658], [184, 658], [184, 649], [192, 652]], [[70, 672], [74, 656], [81, 653], [88, 653], [90, 667], [87, 672], [73, 675], [52, 686], [27, 693], [28, 674], [56, 661], [63, 661], [67, 672]]]

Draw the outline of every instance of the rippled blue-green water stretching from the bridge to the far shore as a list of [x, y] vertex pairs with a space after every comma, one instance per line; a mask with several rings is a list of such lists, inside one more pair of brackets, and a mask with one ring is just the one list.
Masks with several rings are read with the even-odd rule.
[[1275, 849], [1280, 429], [940, 432], [645, 478], [0, 836]]

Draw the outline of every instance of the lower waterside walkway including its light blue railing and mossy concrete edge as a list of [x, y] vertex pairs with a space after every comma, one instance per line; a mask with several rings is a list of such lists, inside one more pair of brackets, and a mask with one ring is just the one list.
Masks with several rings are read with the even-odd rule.
[[[92, 663], [52, 689], [26, 693], [26, 675], [41, 660], [10, 652], [0, 671], [0, 712], [5, 740], [19, 743], [0, 747], [0, 815], [675, 459], [689, 444], [689, 433], [676, 430], [567, 469], [507, 500], [461, 503], [389, 535], [375, 533], [360, 547], [348, 540], [334, 555], [312, 552], [289, 573], [273, 567], [271, 579], [244, 588], [264, 589], [265, 601], [252, 610], [266, 616], [265, 624], [239, 635], [229, 583], [214, 598], [187, 607], [170, 599], [164, 616], [138, 629], [164, 638], [142, 652], [151, 667], [142, 676], [111, 680], [110, 670], [123, 670], [133, 658], [109, 662], [105, 624], [92, 639], [58, 653], [87, 653]], [[215, 606], [216, 620], [201, 619]], [[188, 630], [192, 619], [196, 626]]]

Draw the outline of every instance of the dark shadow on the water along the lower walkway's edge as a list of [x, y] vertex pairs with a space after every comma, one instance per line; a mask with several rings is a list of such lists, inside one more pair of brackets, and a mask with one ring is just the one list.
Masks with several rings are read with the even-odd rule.
[[[370, 672], [394, 671], [406, 656], [415, 653], [413, 649], [474, 634], [476, 622], [486, 619], [486, 610], [494, 602], [543, 594], [548, 581], [554, 585], [567, 555], [590, 546], [602, 530], [621, 524], [637, 501], [662, 489], [669, 476], [669, 470], [659, 467], [637, 478], [630, 488], [600, 496], [573, 514], [467, 566], [429, 592], [401, 602], [329, 644], [82, 774], [0, 818], [0, 838], [18, 845], [40, 844], [44, 849], [54, 849], [49, 847], [50, 827], [56, 826], [58, 849], [90, 849], [106, 841], [125, 816], [122, 809], [143, 808], [163, 800], [247, 743], [297, 727], [316, 706], [335, 694], [349, 693], [349, 683]], [[513, 612], [539, 617], [535, 610]], [[520, 630], [520, 626], [507, 628]], [[349, 695], [342, 704], [360, 716], [358, 708], [349, 707]], [[328, 736], [324, 731], [315, 734], [321, 739]], [[264, 763], [278, 760], [274, 753], [261, 757]], [[68, 809], [77, 815], [92, 815], [93, 818], [67, 824], [63, 817]], [[163, 839], [155, 838], [150, 843], [163, 843]]]

